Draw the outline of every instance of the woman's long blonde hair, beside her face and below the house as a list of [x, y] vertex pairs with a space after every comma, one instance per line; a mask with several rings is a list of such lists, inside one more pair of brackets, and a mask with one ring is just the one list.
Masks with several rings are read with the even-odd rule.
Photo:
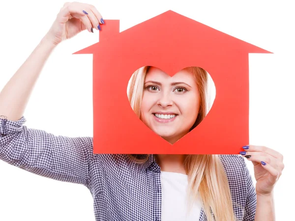
[[[145, 77], [150, 66], [139, 68], [132, 75], [128, 84], [128, 99], [133, 111], [141, 118], [141, 104]], [[200, 108], [194, 129], [206, 116], [207, 72], [200, 67], [188, 67], [186, 70], [193, 73], [200, 93]], [[135, 162], [142, 164], [146, 157], [136, 157], [128, 154]], [[204, 212], [208, 221], [235, 221], [233, 202], [226, 173], [218, 155], [185, 155], [185, 171], [188, 175], [188, 202], [190, 208], [197, 199], [198, 192], [204, 204]], [[214, 217], [212, 216], [214, 214]]]

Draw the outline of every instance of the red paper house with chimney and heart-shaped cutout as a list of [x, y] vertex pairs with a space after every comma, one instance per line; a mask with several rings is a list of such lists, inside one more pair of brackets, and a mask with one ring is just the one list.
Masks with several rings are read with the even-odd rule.
[[[94, 153], [238, 154], [249, 137], [249, 53], [270, 53], [167, 11], [119, 32], [106, 20], [99, 42], [74, 54], [93, 54]], [[128, 81], [142, 66], [173, 76], [189, 66], [210, 73], [216, 97], [207, 117], [173, 145], [135, 115]]]

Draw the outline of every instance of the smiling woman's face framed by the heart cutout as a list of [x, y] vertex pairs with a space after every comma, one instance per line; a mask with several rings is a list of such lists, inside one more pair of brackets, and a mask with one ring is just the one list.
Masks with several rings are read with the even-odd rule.
[[170, 143], [186, 135], [195, 123], [200, 107], [199, 88], [187, 70], [173, 77], [150, 67], [146, 75], [141, 120]]

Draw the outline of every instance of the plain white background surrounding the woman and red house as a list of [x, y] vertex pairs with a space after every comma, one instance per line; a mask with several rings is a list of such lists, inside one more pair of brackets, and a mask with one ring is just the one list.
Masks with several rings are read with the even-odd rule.
[[[171, 9], [274, 53], [249, 55], [250, 143], [284, 155], [285, 169], [275, 187], [275, 208], [277, 221], [289, 220], [295, 199], [293, 1], [83, 2], [95, 5], [104, 19], [119, 19], [120, 31]], [[1, 3], [0, 89], [51, 27], [63, 3]], [[72, 53], [97, 41], [97, 30], [83, 31], [56, 48], [24, 114], [28, 127], [55, 135], [92, 136], [92, 55]], [[252, 163], [247, 165], [253, 176]], [[0, 221], [94, 221], [92, 208], [91, 194], [84, 186], [51, 180], [0, 162]]]

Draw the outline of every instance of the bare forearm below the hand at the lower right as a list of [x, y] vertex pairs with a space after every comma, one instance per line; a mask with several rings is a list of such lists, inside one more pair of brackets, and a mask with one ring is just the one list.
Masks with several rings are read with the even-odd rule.
[[275, 221], [274, 197], [257, 194], [255, 221]]

